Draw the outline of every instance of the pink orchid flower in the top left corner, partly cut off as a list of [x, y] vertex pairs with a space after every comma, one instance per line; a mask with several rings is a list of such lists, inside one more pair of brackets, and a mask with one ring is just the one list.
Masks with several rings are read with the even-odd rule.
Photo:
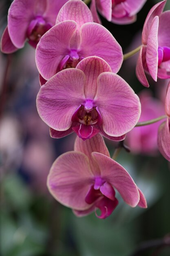
[[26, 40], [36, 48], [40, 38], [53, 25], [68, 0], [14, 0], [9, 8], [8, 25], [1, 38], [1, 51], [12, 53]]

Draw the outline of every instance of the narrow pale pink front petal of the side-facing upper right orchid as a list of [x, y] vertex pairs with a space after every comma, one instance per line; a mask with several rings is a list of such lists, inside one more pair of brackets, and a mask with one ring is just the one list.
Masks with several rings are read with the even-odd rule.
[[152, 20], [152, 25], [148, 34], [148, 43], [146, 47], [146, 63], [148, 70], [154, 81], [157, 81], [158, 72], [158, 26], [159, 17]]

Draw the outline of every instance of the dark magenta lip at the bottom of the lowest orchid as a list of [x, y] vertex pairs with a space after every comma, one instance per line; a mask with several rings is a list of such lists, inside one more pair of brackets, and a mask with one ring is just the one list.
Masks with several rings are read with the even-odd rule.
[[108, 216], [110, 216], [111, 213], [115, 210], [117, 207], [118, 201], [115, 198], [114, 201], [110, 200], [109, 198], [103, 197], [101, 200], [97, 201], [95, 206], [100, 209], [101, 215], [97, 215], [97, 212], [95, 211], [96, 217], [99, 219], [105, 219]]

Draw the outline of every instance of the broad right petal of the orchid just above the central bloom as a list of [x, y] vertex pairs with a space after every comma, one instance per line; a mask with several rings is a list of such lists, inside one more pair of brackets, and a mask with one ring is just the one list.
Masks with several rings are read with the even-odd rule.
[[103, 58], [114, 73], [123, 62], [121, 46], [105, 27], [97, 23], [86, 23], [81, 27], [79, 54]]

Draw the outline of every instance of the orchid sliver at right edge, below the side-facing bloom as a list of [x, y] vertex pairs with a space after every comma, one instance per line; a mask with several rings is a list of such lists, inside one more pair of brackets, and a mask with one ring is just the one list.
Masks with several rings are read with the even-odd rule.
[[167, 119], [161, 124], [158, 131], [158, 148], [163, 157], [170, 161], [170, 83], [167, 88], [165, 100]]

